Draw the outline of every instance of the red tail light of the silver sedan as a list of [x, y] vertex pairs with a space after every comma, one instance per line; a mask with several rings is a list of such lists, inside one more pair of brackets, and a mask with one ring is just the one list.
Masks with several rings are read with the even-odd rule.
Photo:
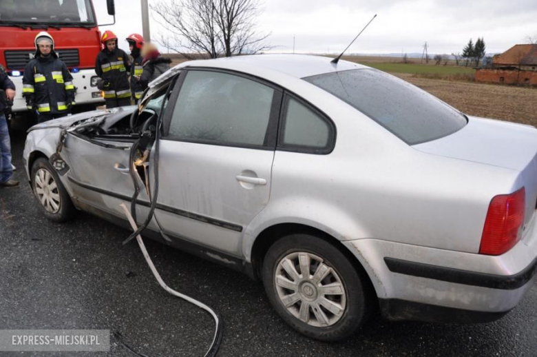
[[526, 190], [494, 196], [490, 201], [479, 254], [500, 255], [514, 247], [522, 236]]

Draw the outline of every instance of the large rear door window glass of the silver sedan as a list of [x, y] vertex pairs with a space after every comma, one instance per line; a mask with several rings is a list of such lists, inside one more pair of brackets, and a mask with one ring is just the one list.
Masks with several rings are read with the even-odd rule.
[[189, 71], [173, 109], [170, 139], [262, 146], [273, 95], [272, 88], [242, 76]]

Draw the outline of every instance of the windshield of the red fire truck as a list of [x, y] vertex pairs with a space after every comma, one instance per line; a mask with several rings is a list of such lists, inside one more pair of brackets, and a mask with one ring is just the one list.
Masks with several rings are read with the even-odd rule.
[[0, 24], [94, 25], [90, 0], [1, 0]]

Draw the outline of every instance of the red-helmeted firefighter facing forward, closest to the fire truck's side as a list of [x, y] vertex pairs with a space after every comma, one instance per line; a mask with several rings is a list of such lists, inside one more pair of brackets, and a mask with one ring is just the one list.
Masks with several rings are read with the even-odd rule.
[[128, 54], [118, 48], [118, 37], [107, 30], [101, 42], [104, 45], [95, 61], [95, 72], [101, 77], [97, 87], [105, 94], [106, 108], [123, 107], [131, 104], [129, 89], [129, 70], [131, 63]]

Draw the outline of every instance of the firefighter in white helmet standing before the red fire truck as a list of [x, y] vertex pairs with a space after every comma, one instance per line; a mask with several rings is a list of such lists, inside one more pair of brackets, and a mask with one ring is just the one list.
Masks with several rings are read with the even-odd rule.
[[38, 123], [70, 114], [75, 88], [67, 65], [54, 52], [54, 39], [42, 31], [35, 37], [35, 56], [24, 68], [23, 96]]

